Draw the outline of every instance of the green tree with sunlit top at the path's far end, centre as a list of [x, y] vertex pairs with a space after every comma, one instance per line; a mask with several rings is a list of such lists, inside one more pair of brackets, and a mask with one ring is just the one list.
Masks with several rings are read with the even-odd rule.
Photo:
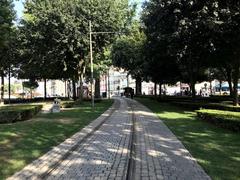
[[145, 35], [138, 23], [133, 24], [129, 34], [121, 36], [112, 46], [113, 65], [128, 71], [136, 79], [136, 94], [141, 94], [143, 80], [143, 45]]

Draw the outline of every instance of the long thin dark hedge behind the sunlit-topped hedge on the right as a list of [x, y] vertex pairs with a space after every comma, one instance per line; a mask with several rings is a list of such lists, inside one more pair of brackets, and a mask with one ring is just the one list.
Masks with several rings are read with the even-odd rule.
[[171, 102], [171, 104], [192, 109], [192, 110], [204, 108], [204, 109], [216, 109], [216, 110], [223, 110], [223, 111], [240, 112], [239, 106], [233, 106], [229, 104], [203, 103], [203, 102]]

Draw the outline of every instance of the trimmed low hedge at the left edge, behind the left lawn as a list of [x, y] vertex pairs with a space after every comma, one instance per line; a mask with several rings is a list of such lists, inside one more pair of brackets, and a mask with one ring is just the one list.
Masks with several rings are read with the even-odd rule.
[[42, 105], [4, 106], [0, 108], [0, 123], [13, 123], [31, 119], [41, 109]]

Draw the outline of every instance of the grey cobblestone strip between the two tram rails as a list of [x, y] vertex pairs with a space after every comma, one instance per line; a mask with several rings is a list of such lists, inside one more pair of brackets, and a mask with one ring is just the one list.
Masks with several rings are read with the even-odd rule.
[[119, 110], [47, 179], [126, 179], [132, 125], [127, 103], [120, 101]]

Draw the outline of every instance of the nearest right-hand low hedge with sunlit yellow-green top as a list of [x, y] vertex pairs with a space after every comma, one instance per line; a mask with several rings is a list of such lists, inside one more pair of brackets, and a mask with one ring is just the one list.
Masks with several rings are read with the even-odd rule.
[[219, 127], [240, 132], [240, 113], [219, 111], [213, 109], [197, 110], [197, 116], [203, 121], [210, 122]]

